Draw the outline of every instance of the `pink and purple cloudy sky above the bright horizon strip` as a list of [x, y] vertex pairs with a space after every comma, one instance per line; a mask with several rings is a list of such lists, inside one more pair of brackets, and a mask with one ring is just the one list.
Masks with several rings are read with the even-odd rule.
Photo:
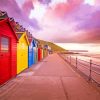
[[81, 45], [100, 42], [100, 0], [0, 1], [0, 9], [38, 39]]

